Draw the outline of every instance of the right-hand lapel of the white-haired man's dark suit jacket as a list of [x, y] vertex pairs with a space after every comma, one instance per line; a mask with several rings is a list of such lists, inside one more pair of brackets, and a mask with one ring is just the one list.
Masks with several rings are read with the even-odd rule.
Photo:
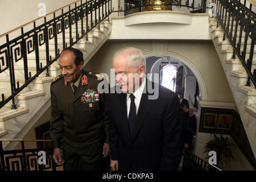
[[137, 119], [134, 124], [132, 141], [135, 139], [135, 137], [138, 134], [139, 130], [141, 129], [143, 123], [146, 121], [146, 117], [152, 107], [152, 101], [148, 100], [149, 94], [147, 93], [147, 91], [145, 91], [145, 90], [147, 90], [147, 82], [148, 82], [148, 80], [146, 80], [146, 85], [145, 85], [144, 91], [142, 93], [141, 102], [139, 103]]

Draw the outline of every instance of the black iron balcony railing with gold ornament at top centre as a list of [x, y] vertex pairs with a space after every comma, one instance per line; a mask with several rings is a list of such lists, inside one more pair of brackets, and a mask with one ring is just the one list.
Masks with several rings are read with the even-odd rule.
[[202, 0], [199, 5], [195, 5], [195, 0], [125, 0], [124, 8], [118, 1], [118, 10], [113, 12], [124, 12], [125, 15], [128, 15], [141, 11], [173, 10], [173, 7], [177, 7], [177, 9], [187, 7], [190, 13], [205, 13], [206, 2], [206, 0]]

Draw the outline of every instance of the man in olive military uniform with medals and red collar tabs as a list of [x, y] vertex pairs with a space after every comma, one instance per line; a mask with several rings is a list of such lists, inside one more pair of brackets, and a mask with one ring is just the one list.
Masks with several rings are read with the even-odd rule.
[[99, 75], [82, 69], [83, 64], [81, 51], [64, 49], [61, 75], [51, 84], [53, 160], [64, 170], [98, 170], [102, 155], [110, 153], [106, 95], [97, 91]]

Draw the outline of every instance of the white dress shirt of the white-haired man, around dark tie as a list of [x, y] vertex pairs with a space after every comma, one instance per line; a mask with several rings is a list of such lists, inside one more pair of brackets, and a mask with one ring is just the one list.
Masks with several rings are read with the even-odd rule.
[[[135, 102], [135, 106], [136, 106], [136, 114], [138, 114], [139, 103], [141, 102], [141, 96], [142, 96], [142, 92], [143, 92], [145, 85], [146, 85], [146, 78], [144, 77], [141, 86], [139, 86], [139, 88], [137, 90], [135, 90], [135, 92], [133, 93], [133, 95], [135, 97], [134, 102]], [[126, 105], [127, 105], [127, 118], [129, 118], [130, 105], [131, 105], [130, 93], [127, 93]]]

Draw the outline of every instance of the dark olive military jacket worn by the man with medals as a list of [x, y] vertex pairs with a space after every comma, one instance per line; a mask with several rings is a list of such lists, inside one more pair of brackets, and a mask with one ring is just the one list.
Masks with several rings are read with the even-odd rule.
[[[96, 162], [102, 155], [102, 146], [109, 143], [109, 122], [106, 94], [99, 94], [100, 102], [82, 103], [81, 96], [89, 90], [97, 91], [97, 74], [82, 70], [82, 76], [87, 77], [87, 84], [82, 85], [81, 81], [77, 87], [75, 96], [70, 83], [65, 85], [63, 76], [60, 75], [51, 84], [51, 128], [50, 134], [53, 147], [60, 147], [63, 137], [78, 143], [79, 149], [74, 146], [63, 150], [76, 151], [83, 155], [84, 160], [90, 163]], [[82, 79], [82, 78], [81, 78]], [[81, 151], [82, 150], [82, 151]], [[65, 160], [65, 159], [64, 159]]]

